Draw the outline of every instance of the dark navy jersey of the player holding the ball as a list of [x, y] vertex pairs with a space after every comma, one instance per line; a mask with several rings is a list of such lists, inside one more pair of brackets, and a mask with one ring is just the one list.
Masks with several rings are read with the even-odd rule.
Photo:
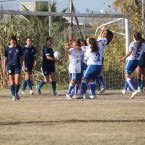
[[55, 61], [47, 59], [47, 56], [54, 58], [54, 51], [52, 48], [45, 46], [42, 50], [42, 67], [54, 68]]

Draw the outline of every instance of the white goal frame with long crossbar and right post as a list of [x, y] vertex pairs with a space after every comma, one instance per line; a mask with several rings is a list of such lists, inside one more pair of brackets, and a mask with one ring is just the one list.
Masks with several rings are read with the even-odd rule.
[[[125, 36], [126, 36], [126, 52], [128, 51], [130, 34], [129, 34], [129, 17], [126, 14], [92, 14], [92, 13], [59, 13], [59, 12], [40, 12], [40, 11], [14, 11], [14, 10], [0, 10], [0, 14], [10, 15], [41, 15], [41, 16], [64, 16], [64, 17], [98, 17], [98, 18], [118, 18], [116, 21], [125, 19]], [[110, 21], [105, 25], [114, 23], [116, 21]], [[98, 28], [99, 29], [99, 28]]]

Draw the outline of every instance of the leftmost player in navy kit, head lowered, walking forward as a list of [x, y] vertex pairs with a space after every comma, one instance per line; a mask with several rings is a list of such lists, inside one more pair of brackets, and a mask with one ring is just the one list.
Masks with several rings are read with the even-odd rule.
[[4, 56], [4, 71], [8, 74], [12, 101], [16, 101], [20, 99], [18, 92], [22, 57], [22, 48], [18, 45], [16, 36], [11, 36], [10, 43], [4, 50]]

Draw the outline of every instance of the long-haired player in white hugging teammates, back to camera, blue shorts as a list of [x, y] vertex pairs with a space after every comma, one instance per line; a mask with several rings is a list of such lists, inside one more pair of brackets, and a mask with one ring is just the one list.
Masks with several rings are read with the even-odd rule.
[[80, 88], [80, 98], [86, 98], [87, 84], [90, 87], [90, 99], [94, 99], [96, 97], [96, 76], [102, 70], [102, 56], [99, 51], [99, 47], [97, 45], [97, 41], [95, 38], [87, 39], [87, 43], [89, 44], [89, 49], [86, 52], [87, 57], [87, 69], [83, 75], [81, 88]]

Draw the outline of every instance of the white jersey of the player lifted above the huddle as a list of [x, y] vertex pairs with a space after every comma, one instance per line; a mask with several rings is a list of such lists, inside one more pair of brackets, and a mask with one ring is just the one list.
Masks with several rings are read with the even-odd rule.
[[107, 46], [108, 40], [107, 40], [107, 38], [99, 38], [99, 39], [97, 40], [97, 42], [98, 42], [98, 47], [99, 47], [99, 49], [100, 49], [100, 54], [101, 54], [102, 57], [104, 58], [104, 51], [105, 51], [105, 48], [106, 48], [106, 46]]

